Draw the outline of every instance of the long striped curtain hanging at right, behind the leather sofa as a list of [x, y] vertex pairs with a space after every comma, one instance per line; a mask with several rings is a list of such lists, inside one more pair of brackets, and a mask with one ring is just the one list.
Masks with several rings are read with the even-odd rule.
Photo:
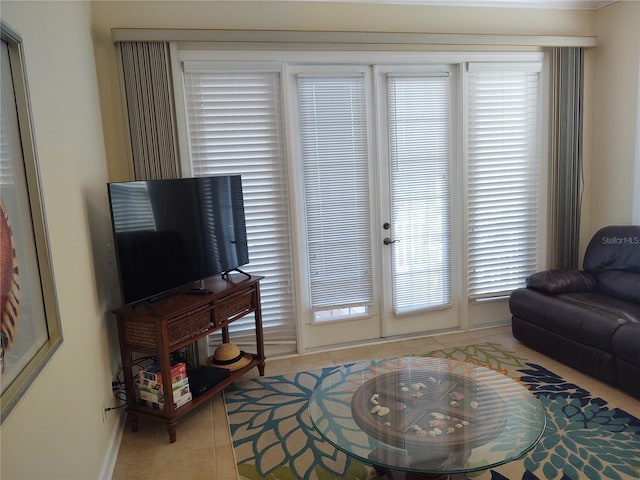
[[579, 265], [584, 48], [554, 48], [551, 65], [551, 268]]

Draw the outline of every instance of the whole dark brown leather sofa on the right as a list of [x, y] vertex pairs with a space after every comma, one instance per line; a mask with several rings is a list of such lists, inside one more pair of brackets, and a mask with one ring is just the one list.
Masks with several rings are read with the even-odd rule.
[[513, 335], [640, 398], [640, 226], [598, 231], [583, 269], [529, 276], [509, 299]]

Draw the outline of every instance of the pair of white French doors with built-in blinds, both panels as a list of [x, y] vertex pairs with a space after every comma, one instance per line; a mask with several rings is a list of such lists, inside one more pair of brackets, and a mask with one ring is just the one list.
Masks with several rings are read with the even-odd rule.
[[455, 327], [454, 75], [342, 70], [292, 72], [304, 348]]

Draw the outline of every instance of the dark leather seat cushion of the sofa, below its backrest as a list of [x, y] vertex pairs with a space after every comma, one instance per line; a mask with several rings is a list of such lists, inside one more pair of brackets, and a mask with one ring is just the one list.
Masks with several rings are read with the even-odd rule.
[[640, 305], [597, 292], [548, 295], [520, 288], [509, 297], [509, 308], [514, 316], [607, 352], [621, 325], [640, 322]]

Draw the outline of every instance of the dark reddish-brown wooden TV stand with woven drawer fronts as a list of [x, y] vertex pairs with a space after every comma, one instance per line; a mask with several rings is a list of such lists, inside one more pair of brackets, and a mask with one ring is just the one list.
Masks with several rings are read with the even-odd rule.
[[[147, 311], [140, 308], [140, 305], [137, 308], [127, 306], [116, 310], [127, 412], [132, 431], [138, 430], [138, 416], [147, 415], [165, 421], [169, 441], [174, 443], [179, 418], [208, 401], [253, 367], [258, 367], [259, 374], [264, 376], [264, 337], [260, 308], [262, 278], [264, 277], [232, 278], [229, 275], [213, 277], [204, 281], [204, 287], [209, 293], [189, 295], [186, 290], [158, 300]], [[171, 386], [171, 354], [218, 330], [222, 332], [222, 341], [229, 342], [229, 325], [252, 312], [256, 325], [256, 353], [252, 354], [251, 362], [230, 372], [228, 378], [203, 394], [175, 408]], [[132, 370], [134, 352], [158, 358], [165, 392], [164, 410], [147, 407], [136, 396]]]

